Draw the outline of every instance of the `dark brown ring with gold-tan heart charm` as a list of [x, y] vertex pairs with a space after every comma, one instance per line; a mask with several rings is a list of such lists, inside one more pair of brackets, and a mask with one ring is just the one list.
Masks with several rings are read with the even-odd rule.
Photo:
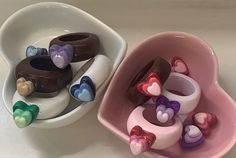
[[57, 68], [49, 56], [32, 56], [16, 66], [16, 87], [21, 96], [32, 92], [53, 93], [63, 89], [72, 80], [71, 66]]

